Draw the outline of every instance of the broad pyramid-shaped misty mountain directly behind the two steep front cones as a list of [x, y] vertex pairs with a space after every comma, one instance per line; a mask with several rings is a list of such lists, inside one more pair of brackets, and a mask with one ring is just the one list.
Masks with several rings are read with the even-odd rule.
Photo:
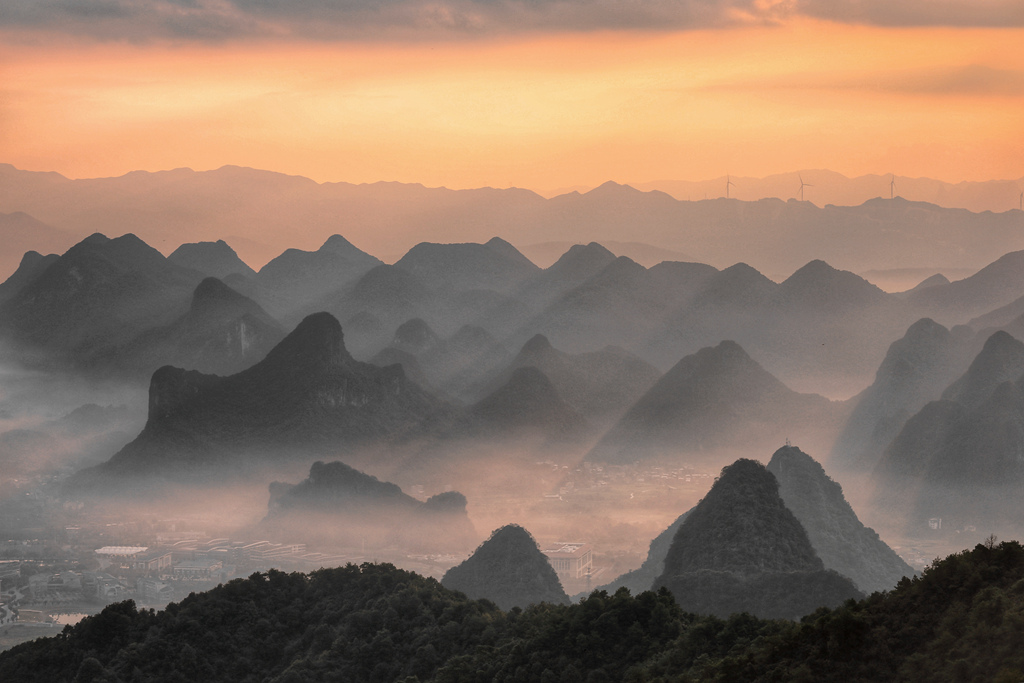
[[837, 411], [826, 398], [793, 391], [738, 344], [723, 341], [676, 364], [587, 458], [628, 463], [777, 442], [835, 423]]

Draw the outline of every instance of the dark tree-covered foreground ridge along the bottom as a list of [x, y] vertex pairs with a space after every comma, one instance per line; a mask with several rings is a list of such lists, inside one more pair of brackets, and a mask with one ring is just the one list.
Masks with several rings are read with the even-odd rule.
[[598, 591], [501, 611], [391, 565], [276, 570], [160, 612], [121, 602], [0, 654], [0, 680], [1020, 681], [1024, 548], [979, 545], [799, 623]]

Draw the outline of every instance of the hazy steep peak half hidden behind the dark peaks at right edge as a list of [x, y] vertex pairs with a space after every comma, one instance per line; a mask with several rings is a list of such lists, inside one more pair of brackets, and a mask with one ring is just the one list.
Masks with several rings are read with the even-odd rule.
[[907, 419], [938, 398], [962, 371], [969, 345], [964, 328], [950, 332], [931, 318], [910, 326], [889, 347], [874, 382], [857, 397], [830, 462], [843, 469], [872, 469]]

